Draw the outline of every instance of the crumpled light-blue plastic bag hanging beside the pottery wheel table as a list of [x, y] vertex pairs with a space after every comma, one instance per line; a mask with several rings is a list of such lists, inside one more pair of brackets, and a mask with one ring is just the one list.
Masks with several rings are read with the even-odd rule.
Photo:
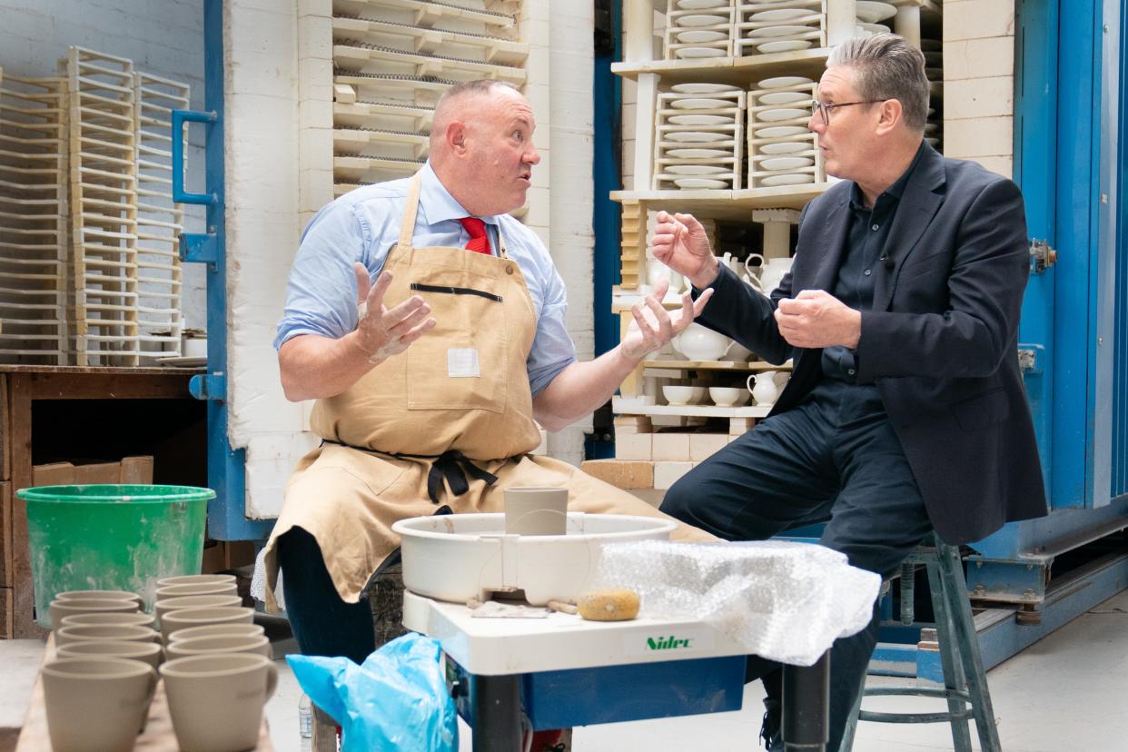
[[316, 655], [285, 660], [309, 699], [341, 725], [341, 752], [457, 752], [439, 640], [408, 632], [361, 665]]

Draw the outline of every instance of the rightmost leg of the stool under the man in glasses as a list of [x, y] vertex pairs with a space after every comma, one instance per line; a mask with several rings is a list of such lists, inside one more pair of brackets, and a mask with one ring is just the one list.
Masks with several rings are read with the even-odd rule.
[[971, 603], [968, 601], [968, 585], [963, 578], [960, 552], [953, 546], [940, 543], [937, 538], [936, 555], [942, 566], [940, 576], [943, 578], [944, 595], [948, 600], [948, 612], [954, 623], [957, 637], [960, 640], [960, 657], [967, 674], [968, 693], [971, 697], [971, 710], [976, 719], [976, 732], [979, 734], [979, 745], [982, 752], [999, 752], [998, 728], [995, 726], [995, 708], [990, 701], [990, 690], [987, 687], [987, 672], [984, 670], [982, 657], [979, 655], [978, 635], [975, 619], [971, 616]]

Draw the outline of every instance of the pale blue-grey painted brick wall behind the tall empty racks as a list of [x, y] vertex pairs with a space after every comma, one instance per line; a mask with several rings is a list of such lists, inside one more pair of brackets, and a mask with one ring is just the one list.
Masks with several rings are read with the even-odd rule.
[[[204, 16], [199, 0], [0, 0], [0, 68], [16, 76], [55, 76], [71, 45], [129, 57], [138, 70], [192, 87], [204, 108]], [[203, 191], [204, 131], [188, 127], [188, 189]], [[186, 206], [185, 231], [203, 232], [204, 211]], [[204, 268], [184, 265], [182, 307], [190, 327], [206, 322]]]

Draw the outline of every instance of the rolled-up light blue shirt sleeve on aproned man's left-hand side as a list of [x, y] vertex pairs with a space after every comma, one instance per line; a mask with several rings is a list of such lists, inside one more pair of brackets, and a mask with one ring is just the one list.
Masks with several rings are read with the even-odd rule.
[[356, 275], [369, 245], [352, 204], [334, 202], [314, 218], [290, 269], [274, 347], [302, 334], [334, 339], [356, 328]]

